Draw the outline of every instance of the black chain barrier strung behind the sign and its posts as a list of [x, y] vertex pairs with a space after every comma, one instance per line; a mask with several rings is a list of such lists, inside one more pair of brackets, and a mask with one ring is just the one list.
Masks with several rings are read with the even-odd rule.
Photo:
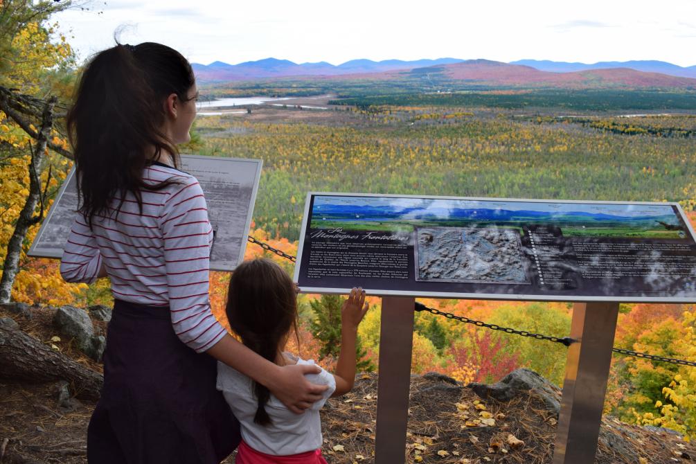
[[[296, 260], [294, 256], [288, 255], [287, 253], [283, 252], [282, 250], [278, 250], [277, 248], [273, 248], [268, 243], [264, 243], [262, 241], [259, 241], [251, 236], [248, 237], [248, 241], [251, 241], [251, 243], [255, 243], [256, 245], [260, 246], [264, 250], [267, 250], [271, 253], [275, 253], [276, 255], [284, 257], [286, 259], [290, 259], [290, 261], [292, 261], [292, 262], [295, 262], [295, 260]], [[509, 328], [509, 327], [501, 327], [501, 326], [498, 326], [497, 324], [489, 324], [489, 323], [485, 323], [483, 321], [469, 319], [468, 317], [464, 317], [464, 316], [457, 316], [456, 314], [452, 314], [451, 312], [439, 311], [439, 310], [436, 310], [432, 307], [427, 307], [426, 305], [424, 305], [422, 303], [418, 303], [418, 302], [416, 302], [416, 307], [414, 309], [416, 311], [419, 311], [419, 312], [429, 312], [430, 314], [435, 314], [436, 316], [446, 317], [447, 319], [454, 319], [455, 321], [470, 323], [470, 324], [473, 324], [473, 325], [478, 326], [478, 327], [489, 328], [491, 330], [500, 330], [500, 332], [511, 333], [513, 335], [520, 335], [521, 337], [531, 337], [531, 338], [535, 338], [537, 340], [547, 340], [548, 342], [560, 343], [560, 344], [565, 345], [565, 346], [571, 346], [571, 344], [574, 344], [576, 342], [576, 340], [572, 339], [571, 337], [552, 337], [550, 335], [541, 335], [540, 333], [532, 333], [532, 332], [528, 332], [527, 330], [516, 330], [514, 328]], [[625, 349], [621, 349], [621, 348], [612, 348], [612, 351], [614, 353], [619, 353], [619, 354], [626, 355], [626, 356], [635, 356], [636, 358], [643, 358], [643, 359], [649, 359], [649, 360], [661, 361], [661, 362], [670, 362], [672, 364], [679, 364], [679, 365], [683, 365], [683, 366], [696, 367], [696, 362], [686, 361], [683, 359], [665, 358], [664, 356], [650, 355], [647, 353], [640, 353], [638, 351], [625, 350]]]

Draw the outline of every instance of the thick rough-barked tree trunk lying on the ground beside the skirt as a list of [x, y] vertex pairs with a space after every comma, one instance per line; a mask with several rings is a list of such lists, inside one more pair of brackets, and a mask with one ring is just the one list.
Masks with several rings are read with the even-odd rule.
[[22, 330], [0, 327], [0, 378], [68, 381], [77, 398], [99, 399], [104, 376], [51, 349]]

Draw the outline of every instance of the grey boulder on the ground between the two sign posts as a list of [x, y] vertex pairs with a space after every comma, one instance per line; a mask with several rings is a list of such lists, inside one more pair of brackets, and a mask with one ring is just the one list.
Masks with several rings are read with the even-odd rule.
[[482, 399], [510, 401], [521, 392], [526, 392], [539, 397], [548, 410], [556, 415], [561, 410], [560, 388], [530, 369], [516, 369], [493, 385], [470, 383], [467, 386]]

